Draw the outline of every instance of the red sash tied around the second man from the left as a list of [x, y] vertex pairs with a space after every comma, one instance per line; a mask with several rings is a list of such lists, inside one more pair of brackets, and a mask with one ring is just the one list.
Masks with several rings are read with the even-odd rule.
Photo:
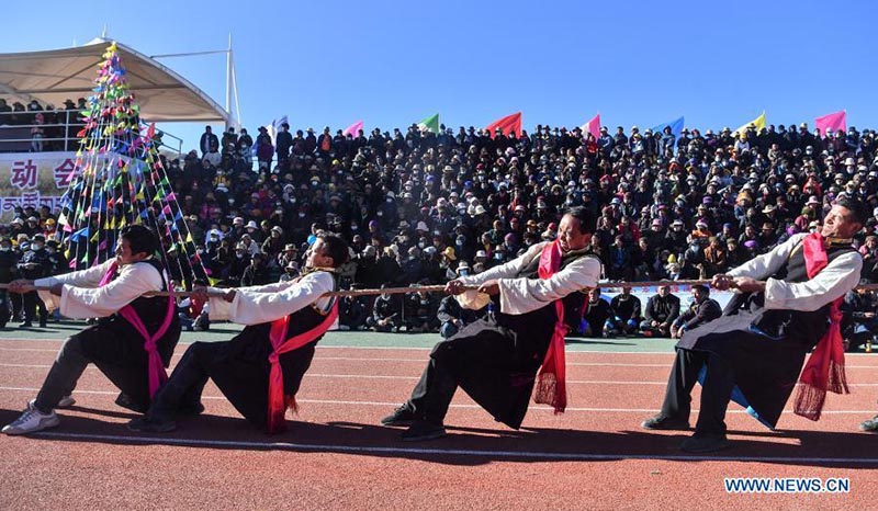
[[286, 415], [286, 409], [292, 408], [295, 410], [295, 396], [283, 395], [283, 371], [281, 370], [280, 355], [289, 351], [297, 350], [326, 333], [337, 317], [338, 300], [333, 304], [329, 314], [326, 315], [326, 318], [319, 325], [306, 332], [293, 336], [285, 341], [283, 340], [283, 336], [286, 334], [286, 330], [290, 327], [290, 316], [284, 316], [271, 322], [269, 339], [271, 340], [271, 347], [274, 351], [272, 351], [268, 357], [271, 364], [271, 374], [268, 379], [269, 433], [283, 431], [285, 427], [284, 416]]

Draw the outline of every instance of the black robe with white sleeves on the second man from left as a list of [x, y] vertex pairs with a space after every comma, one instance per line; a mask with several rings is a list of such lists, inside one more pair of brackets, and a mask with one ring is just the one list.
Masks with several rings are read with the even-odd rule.
[[[286, 319], [284, 340], [320, 327], [335, 307], [335, 298], [320, 295], [336, 288], [334, 273], [314, 271], [290, 282], [235, 289], [232, 303], [211, 298], [212, 320], [227, 319], [247, 327], [227, 342], [200, 343], [207, 344], [204, 348], [210, 351], [201, 361], [223, 395], [250, 422], [266, 425], [268, 421], [269, 359], [274, 353], [270, 339], [272, 323]], [[285, 396], [299, 391], [322, 337], [320, 333], [311, 342], [278, 355]]]

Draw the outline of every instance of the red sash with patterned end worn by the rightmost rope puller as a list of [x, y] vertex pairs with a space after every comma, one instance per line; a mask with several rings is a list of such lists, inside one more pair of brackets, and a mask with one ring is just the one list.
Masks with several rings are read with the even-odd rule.
[[[811, 232], [802, 241], [804, 264], [808, 277], [813, 279], [829, 263], [823, 237]], [[843, 297], [830, 305], [830, 328], [820, 339], [817, 348], [808, 357], [802, 374], [799, 376], [799, 388], [793, 407], [797, 416], [819, 420], [826, 400], [826, 391], [848, 394], [847, 378], [844, 373], [844, 347], [842, 344], [840, 305]]]

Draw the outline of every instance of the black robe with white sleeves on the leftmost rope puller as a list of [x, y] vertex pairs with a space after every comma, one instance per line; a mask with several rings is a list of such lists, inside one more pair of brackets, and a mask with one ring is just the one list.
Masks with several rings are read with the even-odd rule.
[[[165, 333], [155, 340], [164, 374], [170, 364], [173, 349], [180, 339], [180, 320], [176, 307], [168, 307], [167, 296], [142, 296], [149, 291], [167, 291], [168, 277], [161, 263], [154, 259], [119, 266], [110, 260], [79, 272], [40, 279], [37, 286], [64, 284], [61, 296], [41, 291], [46, 307], [60, 308], [68, 318], [99, 318], [98, 325], [82, 330], [83, 354], [103, 372], [132, 402], [146, 409], [149, 406], [149, 355], [144, 336], [120, 310], [130, 306], [149, 334], [160, 331], [169, 319]], [[104, 279], [106, 277], [106, 279]], [[104, 285], [100, 285], [104, 281]], [[157, 388], [157, 383], [153, 385]]]

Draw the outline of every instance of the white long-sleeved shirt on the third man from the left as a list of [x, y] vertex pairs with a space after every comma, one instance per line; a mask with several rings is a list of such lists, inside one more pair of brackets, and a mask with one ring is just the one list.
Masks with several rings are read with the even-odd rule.
[[[600, 262], [595, 258], [581, 258], [549, 279], [516, 277], [533, 258], [540, 257], [548, 243], [537, 243], [513, 261], [460, 280], [465, 285], [480, 285], [496, 279], [500, 289], [500, 311], [511, 315], [537, 310], [571, 293], [597, 285]], [[481, 308], [487, 304], [475, 291], [458, 295], [458, 302], [466, 308]]]

